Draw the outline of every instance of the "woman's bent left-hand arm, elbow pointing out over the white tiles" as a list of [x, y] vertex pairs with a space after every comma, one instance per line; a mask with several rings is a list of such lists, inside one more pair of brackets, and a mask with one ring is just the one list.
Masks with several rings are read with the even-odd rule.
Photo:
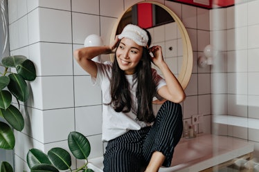
[[92, 61], [93, 57], [102, 54], [109, 54], [113, 52], [118, 44], [118, 37], [112, 42], [109, 46], [92, 46], [92, 47], [84, 47], [78, 50], [75, 50], [73, 56], [78, 64], [92, 77], [97, 76], [97, 66], [96, 62]]

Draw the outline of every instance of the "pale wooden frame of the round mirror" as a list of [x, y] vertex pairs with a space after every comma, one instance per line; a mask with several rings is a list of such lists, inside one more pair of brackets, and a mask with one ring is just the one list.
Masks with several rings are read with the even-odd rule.
[[[190, 37], [188, 35], [186, 28], [184, 27], [184, 24], [181, 22], [179, 17], [177, 17], [175, 12], [172, 12], [172, 10], [170, 10], [168, 7], [164, 6], [161, 3], [158, 3], [155, 1], [141, 1], [139, 3], [152, 3], [154, 5], [160, 6], [161, 8], [166, 10], [172, 16], [173, 19], [175, 19], [175, 22], [177, 22], [177, 26], [179, 27], [179, 30], [181, 32], [183, 51], [184, 51], [181, 70], [177, 79], [180, 82], [181, 86], [184, 89], [186, 89], [186, 86], [190, 81], [190, 75], [192, 74], [192, 71], [193, 71], [193, 48], [192, 48], [192, 45], [190, 44]], [[134, 5], [139, 3], [135, 3]], [[130, 8], [128, 8], [127, 10], [129, 10]], [[127, 10], [125, 10], [125, 12], [127, 12]], [[123, 13], [123, 15], [125, 15], [125, 13]], [[120, 18], [118, 18], [118, 20], [116, 21], [116, 24], [114, 25], [114, 28], [111, 32], [111, 39], [110, 39], [111, 42], [114, 41], [114, 37], [116, 36], [116, 30], [118, 28], [118, 23], [120, 23], [120, 20], [123, 18], [123, 15], [121, 15]], [[111, 61], [113, 61], [113, 59], [114, 59], [114, 55], [111, 55]]]

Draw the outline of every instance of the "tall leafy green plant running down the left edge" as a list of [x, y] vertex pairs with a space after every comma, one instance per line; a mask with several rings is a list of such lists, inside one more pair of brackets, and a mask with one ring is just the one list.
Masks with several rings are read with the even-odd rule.
[[[19, 111], [19, 102], [26, 102], [29, 96], [28, 83], [36, 78], [33, 61], [23, 55], [3, 57], [0, 66], [3, 73], [0, 76], [0, 149], [14, 149], [15, 135], [13, 129], [22, 131], [24, 117]], [[17, 99], [18, 108], [12, 105], [12, 97]], [[8, 162], [1, 162], [1, 172], [12, 172]]]

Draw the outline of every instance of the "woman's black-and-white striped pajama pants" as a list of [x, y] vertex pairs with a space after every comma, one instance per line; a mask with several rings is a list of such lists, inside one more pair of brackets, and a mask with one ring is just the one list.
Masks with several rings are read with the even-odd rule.
[[159, 109], [153, 126], [141, 128], [139, 131], [128, 131], [108, 142], [103, 171], [142, 171], [154, 151], [166, 156], [163, 166], [170, 166], [182, 131], [181, 105], [166, 101]]

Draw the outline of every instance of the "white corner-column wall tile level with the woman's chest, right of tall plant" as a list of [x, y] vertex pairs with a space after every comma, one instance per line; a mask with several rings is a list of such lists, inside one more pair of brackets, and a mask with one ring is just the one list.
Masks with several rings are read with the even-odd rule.
[[70, 108], [74, 106], [73, 77], [40, 77], [42, 107], [39, 109]]

